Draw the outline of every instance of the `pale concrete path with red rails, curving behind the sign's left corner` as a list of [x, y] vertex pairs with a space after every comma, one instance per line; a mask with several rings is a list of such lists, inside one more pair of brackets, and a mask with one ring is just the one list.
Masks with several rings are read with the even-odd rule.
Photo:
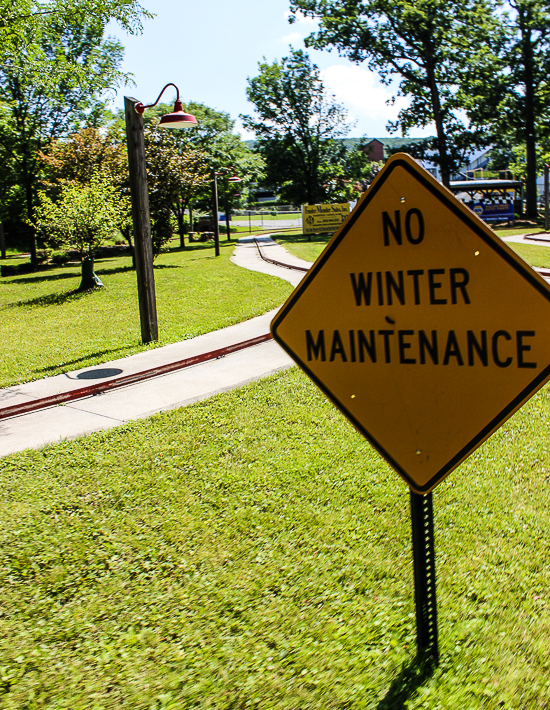
[[[277, 245], [269, 248], [277, 250], [281, 261], [293, 259], [283, 247]], [[233, 260], [239, 266], [279, 276], [293, 284], [298, 283], [304, 275], [267, 264], [250, 242], [236, 246]], [[276, 312], [274, 310], [229, 328], [84, 370], [75, 370], [56, 377], [2, 389], [0, 407], [70, 392], [97, 382], [116, 380], [118, 377], [167, 365], [264, 335], [269, 332], [269, 324]], [[48, 443], [110, 429], [133, 419], [142, 419], [157, 412], [182, 407], [219, 392], [241, 387], [247, 382], [266, 377], [292, 364], [288, 355], [271, 340], [217, 360], [187, 367], [104, 394], [3, 419], [0, 420], [0, 455], [27, 448], [37, 449]]]

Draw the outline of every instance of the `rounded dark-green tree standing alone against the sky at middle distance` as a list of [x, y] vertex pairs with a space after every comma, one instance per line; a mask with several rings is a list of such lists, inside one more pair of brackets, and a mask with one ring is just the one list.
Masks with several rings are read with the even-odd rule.
[[345, 110], [327, 95], [319, 68], [300, 50], [280, 62], [260, 63], [248, 79], [247, 96], [256, 116], [241, 116], [258, 137], [267, 182], [283, 200], [315, 204], [328, 198], [345, 147], [336, 139], [349, 131]]

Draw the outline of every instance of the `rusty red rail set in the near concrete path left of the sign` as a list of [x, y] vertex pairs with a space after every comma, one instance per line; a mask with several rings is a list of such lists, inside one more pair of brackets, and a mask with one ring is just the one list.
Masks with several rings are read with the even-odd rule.
[[93, 397], [94, 395], [103, 394], [104, 392], [109, 392], [110, 390], [118, 389], [119, 387], [127, 387], [128, 385], [133, 385], [137, 382], [142, 382], [143, 380], [150, 380], [153, 377], [167, 375], [171, 372], [175, 372], [176, 370], [183, 370], [186, 367], [198, 365], [202, 362], [208, 362], [209, 360], [217, 360], [218, 358], [225, 357], [225, 355], [230, 355], [231, 353], [238, 352], [239, 350], [245, 350], [246, 348], [254, 347], [254, 345], [260, 345], [270, 339], [271, 333], [265, 333], [265, 335], [258, 335], [256, 338], [242, 340], [239, 343], [228, 345], [225, 348], [218, 348], [217, 350], [210, 350], [209, 352], [201, 353], [200, 355], [193, 355], [192, 357], [185, 358], [184, 360], [171, 362], [168, 365], [160, 365], [159, 367], [153, 367], [149, 370], [136, 372], [133, 375], [117, 377], [115, 380], [109, 380], [109, 382], [99, 382], [95, 385], [79, 387], [78, 389], [70, 392], [62, 392], [49, 397], [34, 399], [32, 402], [24, 402], [23, 404], [14, 404], [11, 407], [3, 407], [0, 409], [0, 420], [17, 417], [22, 414], [29, 414], [39, 409], [46, 409], [47, 407], [55, 407], [58, 404], [65, 404], [66, 402], [72, 402], [77, 399]]

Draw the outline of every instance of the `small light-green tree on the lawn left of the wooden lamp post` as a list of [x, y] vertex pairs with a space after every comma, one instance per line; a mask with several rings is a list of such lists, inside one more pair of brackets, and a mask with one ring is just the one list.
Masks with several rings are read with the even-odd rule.
[[54, 202], [39, 194], [36, 229], [45, 244], [77, 249], [82, 262], [80, 290], [102, 285], [93, 272], [93, 250], [118, 230], [122, 205], [108, 176], [96, 172], [88, 185], [66, 183]]

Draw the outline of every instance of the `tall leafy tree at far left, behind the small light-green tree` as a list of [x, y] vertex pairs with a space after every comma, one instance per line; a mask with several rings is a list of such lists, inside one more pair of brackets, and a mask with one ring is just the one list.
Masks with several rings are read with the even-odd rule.
[[[31, 49], [48, 58], [47, 72], [36, 69]], [[95, 21], [61, 27], [49, 20], [39, 44], [0, 66], [0, 159], [12, 168], [12, 219], [25, 221], [32, 230], [42, 169], [39, 151], [52, 139], [94, 122], [106, 89], [126, 80], [121, 61], [122, 46], [104, 40]], [[35, 262], [34, 231], [29, 247]]]

